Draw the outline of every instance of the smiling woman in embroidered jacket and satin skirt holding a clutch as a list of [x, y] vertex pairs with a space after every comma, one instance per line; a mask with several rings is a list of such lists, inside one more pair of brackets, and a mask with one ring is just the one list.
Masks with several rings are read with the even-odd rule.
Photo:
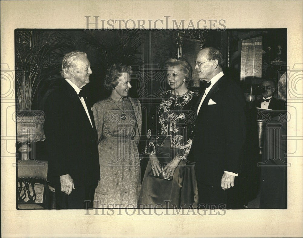
[[149, 161], [138, 206], [195, 207], [198, 203], [195, 171], [186, 159], [198, 94], [188, 90], [192, 68], [185, 59], [168, 59], [165, 66], [171, 90], [161, 93], [160, 105], [155, 105], [149, 117], [146, 147]]

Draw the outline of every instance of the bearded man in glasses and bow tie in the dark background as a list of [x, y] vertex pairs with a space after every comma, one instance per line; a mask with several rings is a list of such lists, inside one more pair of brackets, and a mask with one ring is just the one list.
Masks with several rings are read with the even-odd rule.
[[284, 102], [273, 97], [276, 90], [275, 82], [273, 80], [266, 79], [261, 84], [262, 99], [258, 99], [252, 102], [253, 107], [259, 107], [262, 109], [284, 110]]

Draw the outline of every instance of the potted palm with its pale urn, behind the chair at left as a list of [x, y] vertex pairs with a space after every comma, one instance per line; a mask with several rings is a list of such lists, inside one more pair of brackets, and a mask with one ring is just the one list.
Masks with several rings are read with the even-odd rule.
[[32, 110], [38, 86], [60, 72], [63, 55], [73, 45], [68, 32], [16, 30], [15, 65], [17, 139], [21, 159], [28, 159], [31, 142], [45, 139], [43, 111]]

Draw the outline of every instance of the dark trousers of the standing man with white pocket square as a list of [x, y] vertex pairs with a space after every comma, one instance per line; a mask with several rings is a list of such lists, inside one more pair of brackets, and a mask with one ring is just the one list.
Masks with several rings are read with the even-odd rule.
[[226, 208], [227, 191], [221, 186], [198, 184], [198, 195], [200, 208]]

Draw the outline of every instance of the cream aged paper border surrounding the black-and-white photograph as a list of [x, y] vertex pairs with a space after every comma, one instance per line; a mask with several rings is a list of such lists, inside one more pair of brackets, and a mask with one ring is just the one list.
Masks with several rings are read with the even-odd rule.
[[171, 16], [177, 22], [225, 19], [227, 28], [287, 28], [288, 65], [301, 72], [288, 79], [288, 209], [227, 210], [224, 216], [16, 210], [14, 82], [1, 77], [2, 237], [302, 236], [302, 7], [301, 1], [1, 1], [1, 64], [10, 70], [16, 28], [83, 29], [84, 16], [146, 21]]

